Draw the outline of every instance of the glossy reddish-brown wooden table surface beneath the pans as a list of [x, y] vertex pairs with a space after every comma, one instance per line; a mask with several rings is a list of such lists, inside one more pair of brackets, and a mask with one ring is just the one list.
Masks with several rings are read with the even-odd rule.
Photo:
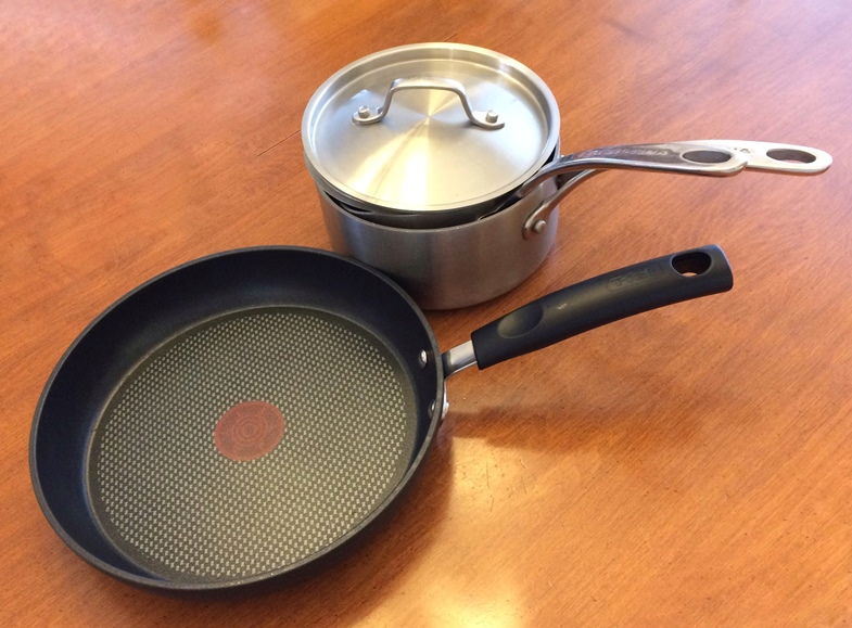
[[[852, 623], [848, 0], [8, 0], [0, 24], [0, 624]], [[724, 248], [734, 290], [454, 376], [421, 480], [333, 568], [206, 601], [92, 568], [29, 478], [54, 364], [113, 300], [183, 261], [329, 248], [304, 107], [343, 65], [422, 41], [533, 68], [565, 152], [736, 138], [835, 163], [818, 177], [612, 172], [573, 191], [522, 286], [428, 312], [443, 349], [535, 296], [697, 245]]]

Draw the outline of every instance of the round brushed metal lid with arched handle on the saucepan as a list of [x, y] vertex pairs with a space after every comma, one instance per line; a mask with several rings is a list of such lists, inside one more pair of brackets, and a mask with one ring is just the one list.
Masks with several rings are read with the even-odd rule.
[[558, 138], [559, 110], [538, 76], [460, 43], [365, 56], [322, 84], [302, 119], [317, 184], [374, 213], [496, 203], [547, 162]]

